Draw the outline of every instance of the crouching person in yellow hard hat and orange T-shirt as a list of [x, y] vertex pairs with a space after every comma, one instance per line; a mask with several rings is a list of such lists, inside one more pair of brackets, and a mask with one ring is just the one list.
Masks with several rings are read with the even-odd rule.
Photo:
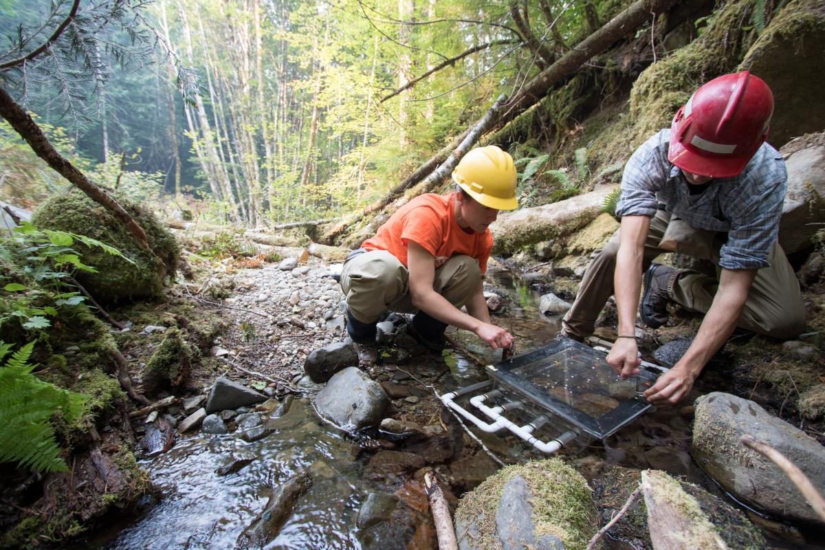
[[375, 325], [386, 311], [415, 313], [406, 331], [430, 350], [441, 350], [447, 325], [473, 331], [493, 349], [512, 344], [490, 321], [482, 280], [493, 247], [490, 223], [499, 210], [518, 206], [516, 167], [490, 145], [467, 153], [452, 177], [454, 192], [410, 200], [347, 256], [341, 286], [361, 366], [375, 361]]

